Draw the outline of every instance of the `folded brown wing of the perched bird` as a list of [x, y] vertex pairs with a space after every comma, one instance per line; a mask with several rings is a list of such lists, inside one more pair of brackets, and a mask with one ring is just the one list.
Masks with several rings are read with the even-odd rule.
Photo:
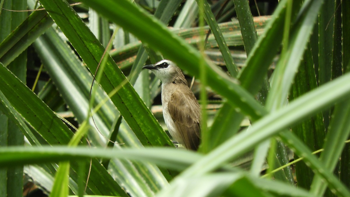
[[170, 116], [187, 149], [197, 150], [201, 136], [201, 108], [188, 88], [175, 90], [168, 102]]

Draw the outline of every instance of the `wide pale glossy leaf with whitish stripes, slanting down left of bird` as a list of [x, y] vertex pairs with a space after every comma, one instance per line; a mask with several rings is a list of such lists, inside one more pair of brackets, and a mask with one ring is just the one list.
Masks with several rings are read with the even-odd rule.
[[[89, 90], [92, 76], [82, 67], [81, 62], [55, 30], [49, 29], [47, 33], [34, 43], [34, 46], [62, 97], [78, 121], [83, 123], [86, 119], [86, 112], [89, 110]], [[108, 98], [100, 87], [96, 87], [95, 91], [96, 104]], [[104, 104], [98, 113], [93, 115], [97, 128], [105, 137], [109, 137], [112, 122], [114, 118], [117, 118], [117, 115], [118, 111], [110, 100]], [[95, 128], [93, 122], [89, 122], [89, 124], [91, 128]], [[91, 129], [88, 136], [93, 145], [105, 146], [106, 140], [101, 140], [103, 138], [102, 135], [99, 134], [97, 129]], [[142, 146], [132, 131], [126, 129], [120, 129], [117, 142], [125, 142], [126, 144], [121, 145], [122, 147]], [[120, 148], [120, 145], [118, 147]], [[132, 177], [128, 178], [128, 180], [118, 178], [118, 183], [123, 184], [129, 193], [133, 193], [133, 195], [151, 195], [152, 185], [159, 184], [157, 187], [160, 187], [162, 184], [166, 184], [165, 178], [154, 165], [131, 163], [124, 160], [112, 162], [111, 168], [115, 168], [112, 175], [116, 177]], [[135, 182], [139, 183], [140, 188], [136, 188], [133, 185]], [[157, 187], [154, 189], [155, 191], [159, 190]]]

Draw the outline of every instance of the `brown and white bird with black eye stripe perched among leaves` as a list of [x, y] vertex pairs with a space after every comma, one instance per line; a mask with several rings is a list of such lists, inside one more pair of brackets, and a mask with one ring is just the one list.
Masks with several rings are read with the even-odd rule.
[[162, 82], [163, 117], [173, 140], [196, 151], [201, 139], [201, 107], [181, 69], [170, 60], [143, 68], [151, 70]]

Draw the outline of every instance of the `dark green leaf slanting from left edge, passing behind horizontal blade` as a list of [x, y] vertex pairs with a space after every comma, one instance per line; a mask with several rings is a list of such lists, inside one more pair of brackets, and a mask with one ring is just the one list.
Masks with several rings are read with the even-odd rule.
[[[68, 144], [73, 133], [61, 119], [2, 64], [0, 73], [2, 93], [31, 127], [35, 128], [50, 144]], [[71, 166], [75, 170], [78, 168], [76, 163], [72, 163]], [[113, 178], [96, 159], [92, 160], [91, 174], [91, 180], [99, 180], [95, 181], [95, 183], [94, 181], [89, 181], [90, 188], [95, 190], [96, 193], [114, 193], [116, 195], [119, 195], [118, 192], [123, 193], [124, 190], [120, 187], [118, 188], [119, 185], [113, 181]], [[99, 184], [99, 186], [97, 187], [95, 184]]]

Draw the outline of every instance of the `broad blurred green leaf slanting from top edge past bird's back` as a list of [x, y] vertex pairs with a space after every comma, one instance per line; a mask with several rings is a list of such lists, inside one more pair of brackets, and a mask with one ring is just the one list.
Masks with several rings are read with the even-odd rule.
[[[199, 62], [203, 58], [186, 42], [169, 32], [160, 22], [151, 18], [144, 11], [126, 0], [95, 1], [85, 0], [87, 5], [93, 7], [99, 13], [127, 29], [149, 47], [162, 52], [162, 54], [190, 74], [199, 76]], [[139, 24], [143, 24], [140, 26]], [[166, 40], [166, 42], [164, 42]], [[257, 118], [262, 108], [255, 99], [227, 77], [225, 73], [216, 67], [207, 65], [209, 85], [224, 97], [230, 98], [230, 103], [238, 107], [243, 113]], [[241, 99], [243, 98], [243, 99]], [[154, 132], [154, 131], [153, 131]]]

